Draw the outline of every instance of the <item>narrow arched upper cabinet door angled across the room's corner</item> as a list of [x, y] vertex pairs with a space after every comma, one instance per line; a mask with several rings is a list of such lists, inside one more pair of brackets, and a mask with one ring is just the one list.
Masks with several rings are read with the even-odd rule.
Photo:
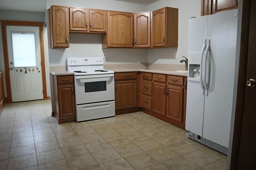
[[150, 12], [134, 14], [134, 47], [150, 47]]

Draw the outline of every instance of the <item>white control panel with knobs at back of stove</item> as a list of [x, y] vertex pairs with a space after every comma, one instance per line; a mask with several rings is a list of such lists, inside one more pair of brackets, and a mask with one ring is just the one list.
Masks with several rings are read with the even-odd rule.
[[68, 66], [103, 65], [102, 57], [68, 57]]

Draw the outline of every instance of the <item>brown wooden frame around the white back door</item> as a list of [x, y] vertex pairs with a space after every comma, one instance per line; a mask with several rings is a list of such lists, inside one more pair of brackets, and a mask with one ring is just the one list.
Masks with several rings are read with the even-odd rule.
[[12, 103], [6, 25], [39, 27], [43, 96], [44, 96], [44, 100], [48, 99], [47, 91], [46, 91], [46, 74], [45, 74], [45, 62], [44, 62], [44, 32], [43, 32], [44, 23], [43, 22], [29, 22], [29, 21], [4, 21], [4, 20], [1, 20], [1, 24], [2, 24], [2, 37], [3, 37], [3, 47], [4, 47], [4, 67], [5, 67], [5, 79], [6, 79], [6, 91], [7, 91], [7, 97], [5, 98], [6, 103]]

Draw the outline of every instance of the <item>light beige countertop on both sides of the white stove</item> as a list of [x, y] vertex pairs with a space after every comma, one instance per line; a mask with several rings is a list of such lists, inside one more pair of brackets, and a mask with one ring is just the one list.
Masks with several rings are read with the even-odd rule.
[[[185, 70], [166, 70], [160, 68], [129, 68], [129, 69], [111, 69], [114, 72], [152, 72], [159, 74], [170, 74], [176, 76], [188, 76], [188, 73]], [[74, 75], [74, 72], [69, 72], [66, 70], [52, 70], [50, 74], [55, 76], [63, 76], [63, 75]]]

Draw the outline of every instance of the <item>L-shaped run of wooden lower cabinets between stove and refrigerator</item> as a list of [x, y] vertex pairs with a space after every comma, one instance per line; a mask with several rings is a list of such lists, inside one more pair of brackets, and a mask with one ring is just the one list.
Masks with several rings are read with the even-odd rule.
[[135, 78], [135, 73], [115, 73], [116, 113], [130, 113], [131, 109], [140, 108], [185, 129], [187, 78], [148, 72], [141, 72], [138, 82]]

